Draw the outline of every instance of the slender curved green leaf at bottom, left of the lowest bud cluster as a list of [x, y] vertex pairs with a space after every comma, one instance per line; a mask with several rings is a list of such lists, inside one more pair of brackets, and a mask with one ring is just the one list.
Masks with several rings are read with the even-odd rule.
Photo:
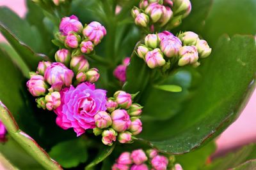
[[99, 155], [97, 155], [96, 159], [93, 160], [88, 166], [85, 167], [85, 170], [93, 169], [97, 164], [106, 159], [114, 150], [115, 144], [112, 146], [104, 146], [102, 150], [100, 150]]

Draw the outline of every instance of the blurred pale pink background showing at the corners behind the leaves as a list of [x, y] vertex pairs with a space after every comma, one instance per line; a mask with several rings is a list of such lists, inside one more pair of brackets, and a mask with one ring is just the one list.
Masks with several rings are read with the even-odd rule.
[[[8, 6], [20, 17], [26, 15], [26, 5], [24, 0], [0, 0], [0, 6]], [[0, 41], [4, 41], [0, 34]], [[256, 90], [241, 116], [230, 125], [228, 129], [216, 140], [217, 154], [226, 152], [241, 145], [256, 142]]]

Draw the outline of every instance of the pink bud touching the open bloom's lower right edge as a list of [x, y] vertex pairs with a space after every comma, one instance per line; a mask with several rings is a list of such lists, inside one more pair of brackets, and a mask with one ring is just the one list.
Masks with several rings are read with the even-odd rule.
[[99, 111], [95, 116], [95, 125], [100, 129], [109, 127], [112, 124], [112, 119], [106, 111]]

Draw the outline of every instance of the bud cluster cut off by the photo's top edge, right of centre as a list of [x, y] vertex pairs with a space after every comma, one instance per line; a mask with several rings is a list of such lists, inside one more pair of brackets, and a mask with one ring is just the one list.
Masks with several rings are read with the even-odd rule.
[[135, 24], [141, 27], [163, 27], [169, 23], [176, 27], [190, 11], [189, 0], [141, 0], [139, 8], [132, 9], [132, 17]]

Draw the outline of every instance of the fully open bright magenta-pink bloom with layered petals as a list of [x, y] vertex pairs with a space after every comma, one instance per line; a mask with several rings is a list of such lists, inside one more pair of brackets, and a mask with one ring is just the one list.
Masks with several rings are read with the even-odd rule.
[[62, 129], [74, 128], [77, 136], [86, 129], [95, 127], [94, 116], [106, 110], [106, 90], [95, 89], [95, 85], [81, 83], [61, 90], [61, 105], [54, 110], [56, 123]]

